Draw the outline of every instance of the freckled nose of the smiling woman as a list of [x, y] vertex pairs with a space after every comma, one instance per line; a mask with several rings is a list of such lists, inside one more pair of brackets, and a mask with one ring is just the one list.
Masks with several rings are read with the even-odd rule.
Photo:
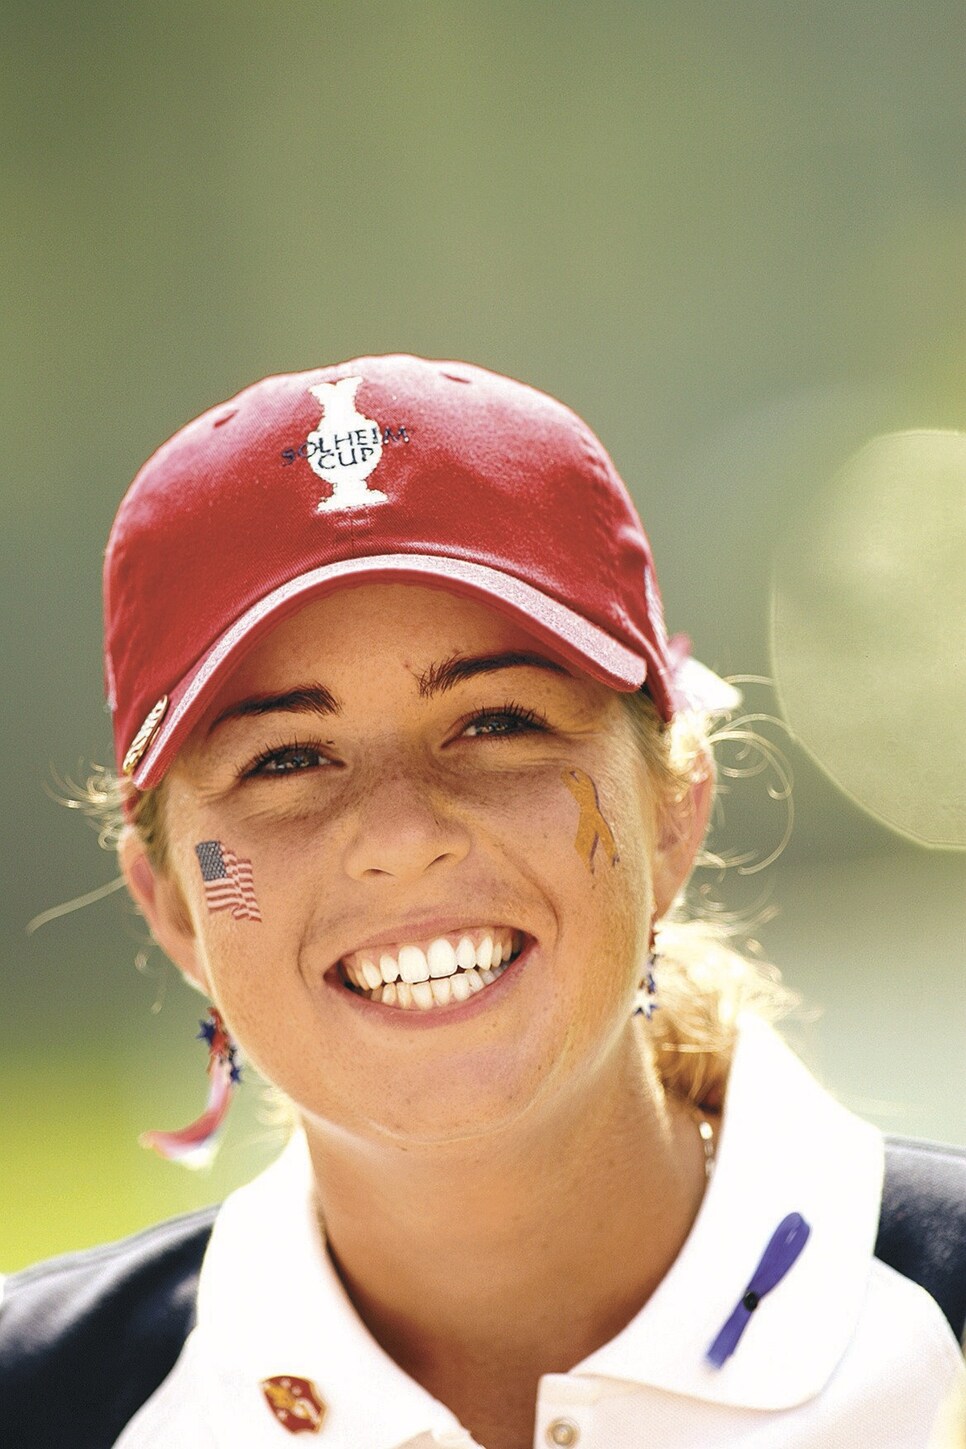
[[469, 829], [423, 772], [384, 768], [359, 791], [345, 869], [352, 880], [407, 884], [469, 853]]

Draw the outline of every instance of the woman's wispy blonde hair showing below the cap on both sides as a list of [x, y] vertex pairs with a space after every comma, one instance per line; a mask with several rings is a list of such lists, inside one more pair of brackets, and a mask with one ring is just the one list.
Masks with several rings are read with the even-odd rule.
[[[691, 711], [679, 711], [666, 723], [643, 691], [620, 698], [659, 804], [689, 794], [695, 777], [713, 765], [715, 743], [742, 740], [773, 758], [770, 746], [746, 727], [762, 716], [746, 716], [715, 732], [710, 716]], [[94, 819], [104, 848], [116, 848], [125, 823], [133, 826], [154, 868], [165, 869], [164, 781], [142, 793], [110, 771], [98, 769], [67, 803]], [[695, 869], [721, 869], [723, 864], [720, 856], [702, 851]], [[721, 1107], [740, 1016], [753, 1011], [775, 1022], [798, 1004], [798, 997], [781, 984], [770, 962], [752, 959], [730, 943], [747, 936], [760, 920], [760, 914], [749, 923], [710, 909], [685, 887], [656, 924], [660, 1007], [647, 1023], [647, 1039], [665, 1090], [695, 1107]]]

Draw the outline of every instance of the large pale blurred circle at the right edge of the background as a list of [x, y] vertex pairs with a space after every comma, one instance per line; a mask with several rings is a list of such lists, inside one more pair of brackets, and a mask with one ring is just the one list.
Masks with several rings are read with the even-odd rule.
[[789, 520], [772, 671], [794, 735], [859, 806], [966, 848], [966, 433], [883, 433]]

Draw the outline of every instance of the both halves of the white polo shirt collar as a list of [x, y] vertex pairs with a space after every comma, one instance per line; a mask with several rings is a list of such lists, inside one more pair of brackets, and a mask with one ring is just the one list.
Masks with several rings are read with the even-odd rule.
[[[824, 1093], [769, 1027], [744, 1020], [714, 1177], [694, 1227], [642, 1311], [571, 1375], [747, 1408], [786, 1408], [817, 1394], [862, 1308], [882, 1164], [881, 1135]], [[734, 1355], [711, 1368], [710, 1343], [794, 1211], [811, 1227], [801, 1258], [752, 1314]], [[204, 1371], [222, 1381], [219, 1443], [278, 1445], [268, 1411], [264, 1435], [255, 1429], [251, 1395], [280, 1374], [319, 1387], [330, 1449], [474, 1442], [356, 1314], [324, 1250], [301, 1133], [222, 1207], [201, 1268], [194, 1337]]]

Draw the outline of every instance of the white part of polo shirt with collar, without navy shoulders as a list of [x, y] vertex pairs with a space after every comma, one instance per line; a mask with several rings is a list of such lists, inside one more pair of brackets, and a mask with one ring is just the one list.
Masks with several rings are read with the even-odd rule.
[[[934, 1300], [873, 1258], [883, 1148], [756, 1020], [742, 1027], [714, 1177], [640, 1313], [568, 1374], [545, 1374], [534, 1449], [931, 1449], [966, 1382]], [[379, 1348], [324, 1250], [304, 1136], [222, 1207], [197, 1327], [117, 1449], [282, 1449], [262, 1381], [314, 1385], [320, 1449], [472, 1449], [455, 1414]], [[731, 1358], [705, 1352], [775, 1229], [811, 1235]], [[458, 1287], [456, 1287], [458, 1291]]]

